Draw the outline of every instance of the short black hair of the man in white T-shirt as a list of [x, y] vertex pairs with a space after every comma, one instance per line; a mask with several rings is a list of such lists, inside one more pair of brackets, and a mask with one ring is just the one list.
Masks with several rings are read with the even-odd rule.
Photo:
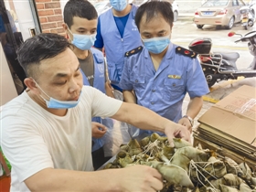
[[27, 38], [17, 49], [17, 59], [25, 70], [27, 77], [37, 79], [37, 67], [40, 61], [54, 58], [67, 48], [73, 48], [69, 41], [58, 34], [42, 33], [35, 37]]

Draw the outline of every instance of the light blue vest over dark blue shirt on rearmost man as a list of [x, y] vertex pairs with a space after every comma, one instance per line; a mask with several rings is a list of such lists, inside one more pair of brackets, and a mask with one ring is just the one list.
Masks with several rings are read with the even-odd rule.
[[137, 6], [132, 5], [132, 10], [123, 29], [123, 36], [116, 25], [112, 9], [102, 13], [98, 18], [94, 47], [102, 48], [104, 46], [109, 78], [112, 84], [118, 87], [123, 71], [124, 53], [142, 45], [140, 33], [134, 21], [136, 11]]

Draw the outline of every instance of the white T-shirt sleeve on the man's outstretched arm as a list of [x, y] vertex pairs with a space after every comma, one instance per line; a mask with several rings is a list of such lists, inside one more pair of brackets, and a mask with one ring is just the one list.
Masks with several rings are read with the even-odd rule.
[[101, 91], [91, 88], [91, 114], [92, 117], [100, 116], [102, 118], [112, 117], [120, 109], [123, 101], [113, 99], [103, 94]]

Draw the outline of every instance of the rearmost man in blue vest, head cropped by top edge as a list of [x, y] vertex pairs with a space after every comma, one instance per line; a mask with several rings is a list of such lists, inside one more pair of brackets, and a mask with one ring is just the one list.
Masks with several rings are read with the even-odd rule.
[[134, 22], [137, 10], [128, 0], [110, 0], [112, 8], [98, 19], [95, 48], [104, 48], [112, 87], [119, 88], [124, 63], [124, 53], [142, 45], [138, 28]]

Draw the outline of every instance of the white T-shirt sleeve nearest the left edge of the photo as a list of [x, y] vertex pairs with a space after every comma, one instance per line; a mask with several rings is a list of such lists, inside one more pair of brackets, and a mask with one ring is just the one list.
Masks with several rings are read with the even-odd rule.
[[16, 116], [7, 116], [1, 122], [1, 146], [19, 182], [40, 170], [54, 167], [47, 144], [33, 130], [32, 123]]

